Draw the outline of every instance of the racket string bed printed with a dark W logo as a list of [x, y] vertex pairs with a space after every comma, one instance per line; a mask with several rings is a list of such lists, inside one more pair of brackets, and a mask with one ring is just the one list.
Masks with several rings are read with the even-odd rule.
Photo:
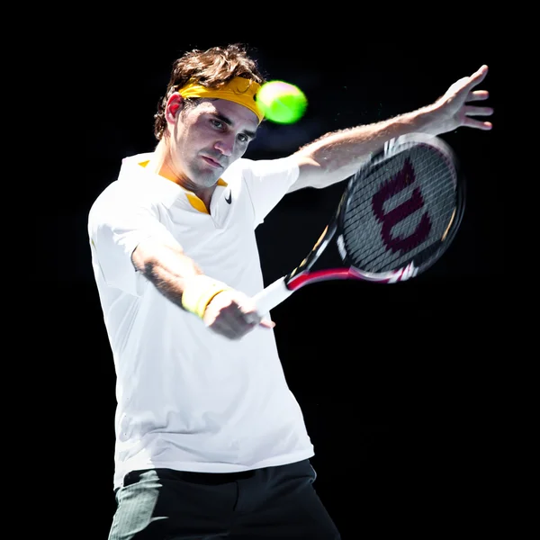
[[426, 145], [401, 150], [358, 176], [342, 223], [351, 263], [379, 273], [419, 254], [433, 257], [454, 215], [455, 186], [451, 161]]

